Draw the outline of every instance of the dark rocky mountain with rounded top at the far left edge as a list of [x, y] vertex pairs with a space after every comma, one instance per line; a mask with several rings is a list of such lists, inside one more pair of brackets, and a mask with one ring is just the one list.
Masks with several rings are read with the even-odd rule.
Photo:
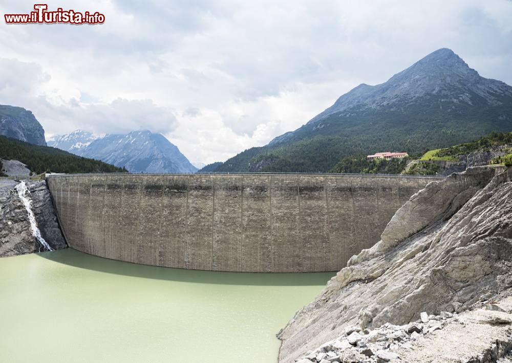
[[0, 105], [0, 135], [46, 146], [45, 130], [32, 112], [22, 107]]

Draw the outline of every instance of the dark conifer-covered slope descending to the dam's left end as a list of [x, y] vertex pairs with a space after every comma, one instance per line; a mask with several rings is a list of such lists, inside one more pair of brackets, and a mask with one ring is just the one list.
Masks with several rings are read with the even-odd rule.
[[127, 172], [125, 168], [80, 157], [53, 147], [32, 145], [0, 136], [0, 158], [18, 160], [34, 173], [99, 173]]

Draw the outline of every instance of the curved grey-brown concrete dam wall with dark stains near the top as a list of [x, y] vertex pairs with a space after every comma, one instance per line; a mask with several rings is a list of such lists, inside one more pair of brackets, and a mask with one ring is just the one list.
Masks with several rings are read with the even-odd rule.
[[380, 239], [433, 177], [353, 174], [81, 174], [47, 178], [79, 251], [141, 264], [334, 271]]

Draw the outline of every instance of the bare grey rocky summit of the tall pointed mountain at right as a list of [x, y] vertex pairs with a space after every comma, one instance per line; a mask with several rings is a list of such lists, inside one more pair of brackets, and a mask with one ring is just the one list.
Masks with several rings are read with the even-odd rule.
[[349, 111], [354, 109], [405, 109], [424, 96], [435, 97], [439, 107], [447, 109], [455, 109], [459, 104], [500, 105], [502, 97], [512, 97], [512, 87], [480, 77], [451, 49], [442, 48], [385, 83], [358, 85], [308, 123], [321, 121], [338, 112], [342, 112], [340, 117], [349, 116]]

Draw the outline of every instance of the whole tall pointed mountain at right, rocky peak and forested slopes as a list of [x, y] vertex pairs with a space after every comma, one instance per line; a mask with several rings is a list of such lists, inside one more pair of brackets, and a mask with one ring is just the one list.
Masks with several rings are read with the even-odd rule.
[[295, 131], [215, 171], [326, 172], [343, 157], [448, 147], [512, 130], [512, 87], [481, 77], [450, 49], [387, 82], [360, 84]]

